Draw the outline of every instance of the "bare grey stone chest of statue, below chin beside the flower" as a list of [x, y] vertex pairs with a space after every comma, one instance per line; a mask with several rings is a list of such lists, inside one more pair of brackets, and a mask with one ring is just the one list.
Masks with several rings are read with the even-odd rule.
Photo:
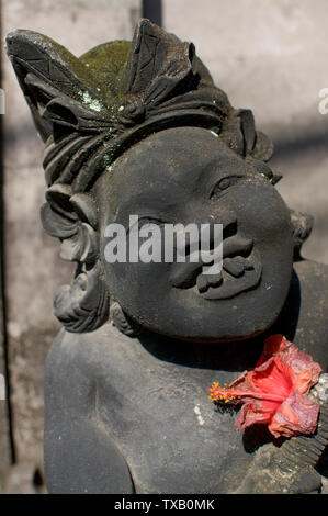
[[97, 380], [95, 416], [123, 453], [138, 493], [225, 493], [238, 486], [252, 455], [236, 414], [207, 397], [214, 380], [239, 373], [159, 360], [137, 341], [113, 347]]

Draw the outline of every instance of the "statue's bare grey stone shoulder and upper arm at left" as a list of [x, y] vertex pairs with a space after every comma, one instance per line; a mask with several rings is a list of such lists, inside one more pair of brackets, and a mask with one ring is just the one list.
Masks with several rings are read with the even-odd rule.
[[50, 493], [134, 492], [125, 458], [99, 418], [95, 333], [60, 332], [47, 358], [44, 447]]

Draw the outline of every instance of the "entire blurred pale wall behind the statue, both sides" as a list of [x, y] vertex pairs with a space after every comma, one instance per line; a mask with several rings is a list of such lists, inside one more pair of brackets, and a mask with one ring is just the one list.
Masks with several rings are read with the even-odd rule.
[[[319, 91], [328, 88], [327, 0], [1, 2], [2, 35], [31, 29], [76, 55], [105, 41], [131, 40], [142, 15], [192, 41], [233, 105], [253, 111], [258, 128], [275, 145], [271, 166], [284, 175], [278, 189], [291, 207], [315, 216], [304, 256], [328, 265], [328, 114], [318, 110]], [[42, 474], [43, 367], [59, 330], [53, 292], [70, 281], [72, 266], [59, 260], [58, 243], [41, 227], [43, 145], [4, 55], [2, 88], [5, 332], [0, 372], [5, 366], [10, 372], [11, 414], [5, 417], [0, 401], [0, 480], [2, 473], [4, 491], [33, 492], [31, 478], [39, 484]], [[3, 474], [13, 461], [10, 474]]]

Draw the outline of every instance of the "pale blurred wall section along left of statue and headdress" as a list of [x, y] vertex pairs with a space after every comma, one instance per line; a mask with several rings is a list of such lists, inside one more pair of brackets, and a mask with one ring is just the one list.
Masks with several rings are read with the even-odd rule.
[[[13, 29], [30, 29], [54, 37], [79, 56], [104, 41], [131, 40], [140, 16], [140, 3], [4, 0], [3, 34]], [[43, 145], [10, 61], [4, 55], [2, 59], [7, 101], [5, 279], [14, 444], [19, 462], [42, 468], [43, 367], [59, 329], [53, 316], [53, 294], [59, 284], [70, 281], [72, 267], [59, 259], [58, 244], [42, 229], [38, 212], [45, 192]], [[1, 460], [3, 446], [0, 441]]]

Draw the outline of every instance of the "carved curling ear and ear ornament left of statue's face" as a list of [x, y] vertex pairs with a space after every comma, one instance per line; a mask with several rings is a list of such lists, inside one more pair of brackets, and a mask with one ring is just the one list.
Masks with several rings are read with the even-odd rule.
[[78, 263], [72, 283], [55, 292], [55, 315], [68, 332], [92, 332], [109, 318], [95, 200], [60, 183], [47, 190], [46, 200], [41, 210], [43, 227], [61, 242], [61, 258]]

